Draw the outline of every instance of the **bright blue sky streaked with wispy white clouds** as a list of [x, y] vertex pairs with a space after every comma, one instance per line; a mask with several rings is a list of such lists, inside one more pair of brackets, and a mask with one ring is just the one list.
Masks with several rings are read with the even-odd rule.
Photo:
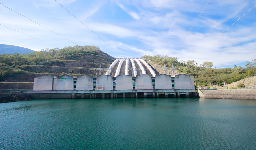
[[[255, 0], [210, 0], [205, 9], [208, 0], [57, 1], [121, 55], [55, 0], [0, 3], [79, 45], [97, 46], [113, 57], [168, 55], [185, 61], [193, 59], [198, 64], [212, 61], [217, 68], [243, 66], [256, 58], [256, 7], [249, 11], [256, 5]], [[0, 24], [60, 48], [75, 45], [2, 5]], [[0, 43], [36, 51], [55, 48], [1, 25]]]

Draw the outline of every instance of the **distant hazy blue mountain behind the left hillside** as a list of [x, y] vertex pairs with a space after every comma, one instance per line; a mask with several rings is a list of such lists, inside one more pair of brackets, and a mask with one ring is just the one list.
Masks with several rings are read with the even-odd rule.
[[14, 46], [14, 45], [0, 44], [0, 54], [13, 54], [13, 53], [26, 54], [26, 53], [32, 53], [32, 52], [34, 51], [28, 48]]

